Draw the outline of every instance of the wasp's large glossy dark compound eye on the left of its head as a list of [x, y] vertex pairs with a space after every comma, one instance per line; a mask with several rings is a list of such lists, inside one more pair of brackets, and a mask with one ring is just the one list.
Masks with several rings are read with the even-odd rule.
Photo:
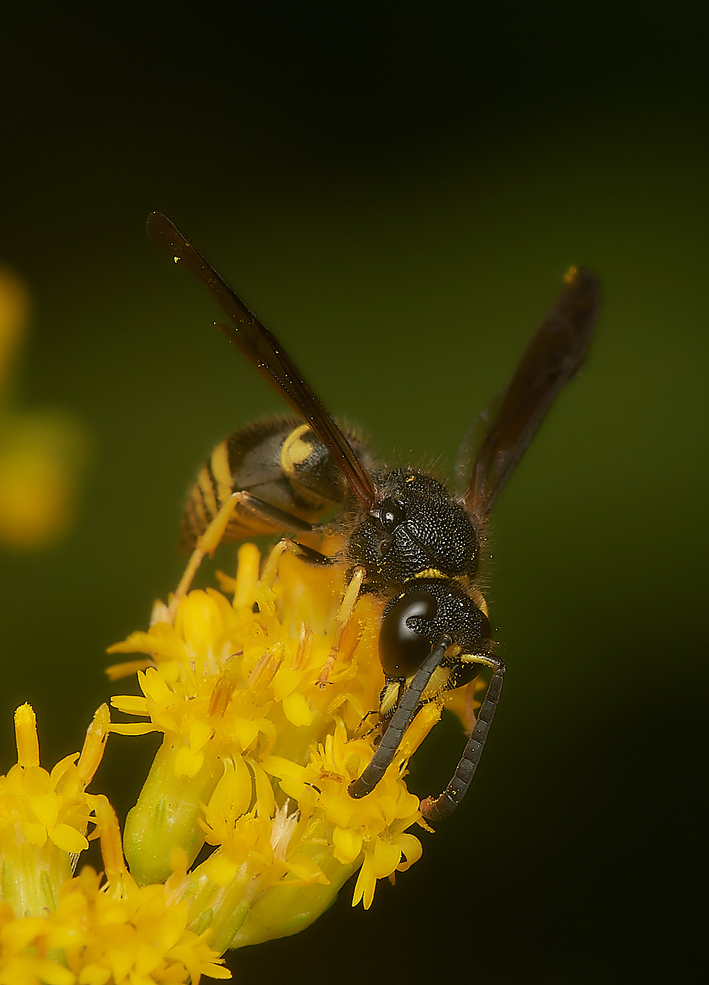
[[379, 660], [387, 677], [411, 677], [430, 653], [431, 641], [412, 629], [414, 617], [433, 620], [436, 600], [423, 590], [407, 592], [384, 610], [379, 632]]

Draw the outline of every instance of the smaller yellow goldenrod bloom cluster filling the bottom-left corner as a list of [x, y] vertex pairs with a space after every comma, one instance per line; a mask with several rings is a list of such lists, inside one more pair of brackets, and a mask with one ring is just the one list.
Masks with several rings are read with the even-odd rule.
[[[187, 904], [165, 886], [140, 888], [123, 861], [118, 821], [105, 797], [86, 793], [108, 734], [102, 705], [81, 754], [47, 772], [34, 713], [15, 714], [18, 762], [0, 777], [0, 985], [153, 985], [229, 977], [219, 954], [187, 928]], [[105, 882], [86, 866], [100, 837]]]

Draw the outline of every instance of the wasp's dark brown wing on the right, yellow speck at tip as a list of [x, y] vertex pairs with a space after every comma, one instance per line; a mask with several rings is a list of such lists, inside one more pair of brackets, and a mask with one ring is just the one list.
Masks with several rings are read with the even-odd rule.
[[465, 493], [485, 519], [559, 391], [576, 375], [596, 327], [600, 289], [586, 267], [571, 267], [507, 388], [473, 429], [486, 428]]

